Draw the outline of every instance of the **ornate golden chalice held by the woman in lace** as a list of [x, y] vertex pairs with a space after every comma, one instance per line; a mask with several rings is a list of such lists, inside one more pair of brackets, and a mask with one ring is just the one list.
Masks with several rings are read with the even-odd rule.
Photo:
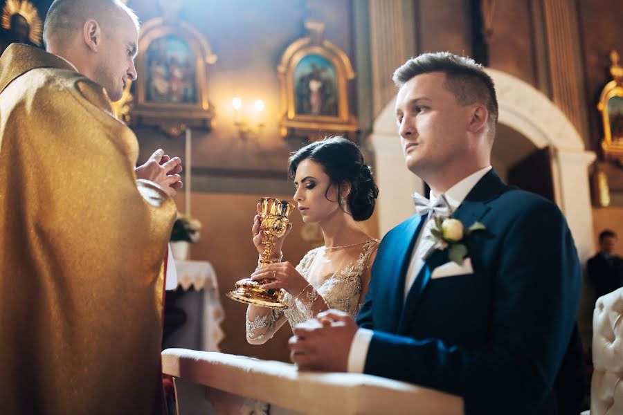
[[[260, 254], [260, 268], [273, 263], [273, 252], [275, 238], [282, 237], [288, 227], [288, 215], [294, 205], [287, 201], [262, 197], [260, 199], [260, 230], [264, 232], [264, 252]], [[278, 252], [277, 252], [278, 253]], [[234, 291], [227, 293], [227, 297], [239, 302], [253, 304], [254, 306], [268, 308], [287, 308], [281, 302], [283, 290], [260, 288], [267, 284], [268, 279], [253, 281], [251, 278], [244, 278], [236, 282]]]

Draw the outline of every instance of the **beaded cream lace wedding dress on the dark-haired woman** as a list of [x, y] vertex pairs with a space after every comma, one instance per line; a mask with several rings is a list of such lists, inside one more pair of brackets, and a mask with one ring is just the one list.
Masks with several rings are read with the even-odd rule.
[[[250, 317], [251, 306], [246, 311], [246, 340], [251, 344], [267, 342], [287, 321], [291, 327], [316, 317], [320, 311], [336, 308], [354, 317], [359, 311], [363, 285], [361, 276], [370, 272], [370, 257], [379, 241], [344, 247], [320, 246], [307, 252], [296, 270], [314, 288], [302, 295], [285, 293], [285, 309], [263, 308], [260, 314]], [[324, 302], [316, 299], [322, 297]], [[320, 306], [318, 306], [320, 303]], [[255, 308], [257, 310], [257, 308]]]

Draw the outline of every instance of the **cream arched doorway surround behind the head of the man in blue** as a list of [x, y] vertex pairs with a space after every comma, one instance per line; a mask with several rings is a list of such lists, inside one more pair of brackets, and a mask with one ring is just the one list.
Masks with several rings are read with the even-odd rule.
[[[584, 263], [595, 248], [588, 186], [588, 165], [595, 154], [584, 149], [573, 124], [547, 96], [512, 75], [486, 71], [496, 84], [499, 124], [530, 140], [536, 149], [550, 147], [554, 200], [566, 216]], [[377, 202], [381, 235], [413, 214], [409, 195], [423, 187], [404, 165], [394, 105], [395, 98], [374, 120], [370, 136], [381, 190]]]

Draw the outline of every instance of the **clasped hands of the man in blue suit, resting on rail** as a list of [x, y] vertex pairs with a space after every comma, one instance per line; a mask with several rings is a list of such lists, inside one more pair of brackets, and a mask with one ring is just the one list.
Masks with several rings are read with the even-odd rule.
[[290, 358], [303, 370], [347, 371], [356, 331], [357, 324], [347, 313], [323, 311], [315, 320], [294, 326], [288, 342]]

